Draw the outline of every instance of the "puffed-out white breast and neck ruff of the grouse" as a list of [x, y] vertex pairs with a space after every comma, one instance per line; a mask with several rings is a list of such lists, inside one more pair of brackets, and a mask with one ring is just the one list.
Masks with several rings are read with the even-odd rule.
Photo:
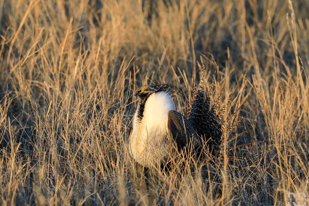
[[137, 117], [138, 112], [135, 112], [129, 151], [140, 164], [149, 167], [167, 155], [170, 149], [167, 139], [170, 110], [175, 110], [171, 95], [158, 92], [150, 95], [146, 100], [140, 122]]

